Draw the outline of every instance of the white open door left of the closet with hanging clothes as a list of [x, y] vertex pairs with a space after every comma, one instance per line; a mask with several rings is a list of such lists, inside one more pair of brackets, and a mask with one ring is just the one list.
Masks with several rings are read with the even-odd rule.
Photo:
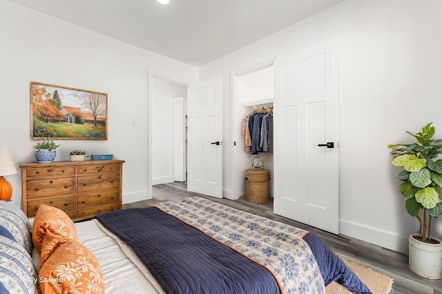
[[187, 189], [222, 198], [221, 78], [193, 83], [188, 94]]

